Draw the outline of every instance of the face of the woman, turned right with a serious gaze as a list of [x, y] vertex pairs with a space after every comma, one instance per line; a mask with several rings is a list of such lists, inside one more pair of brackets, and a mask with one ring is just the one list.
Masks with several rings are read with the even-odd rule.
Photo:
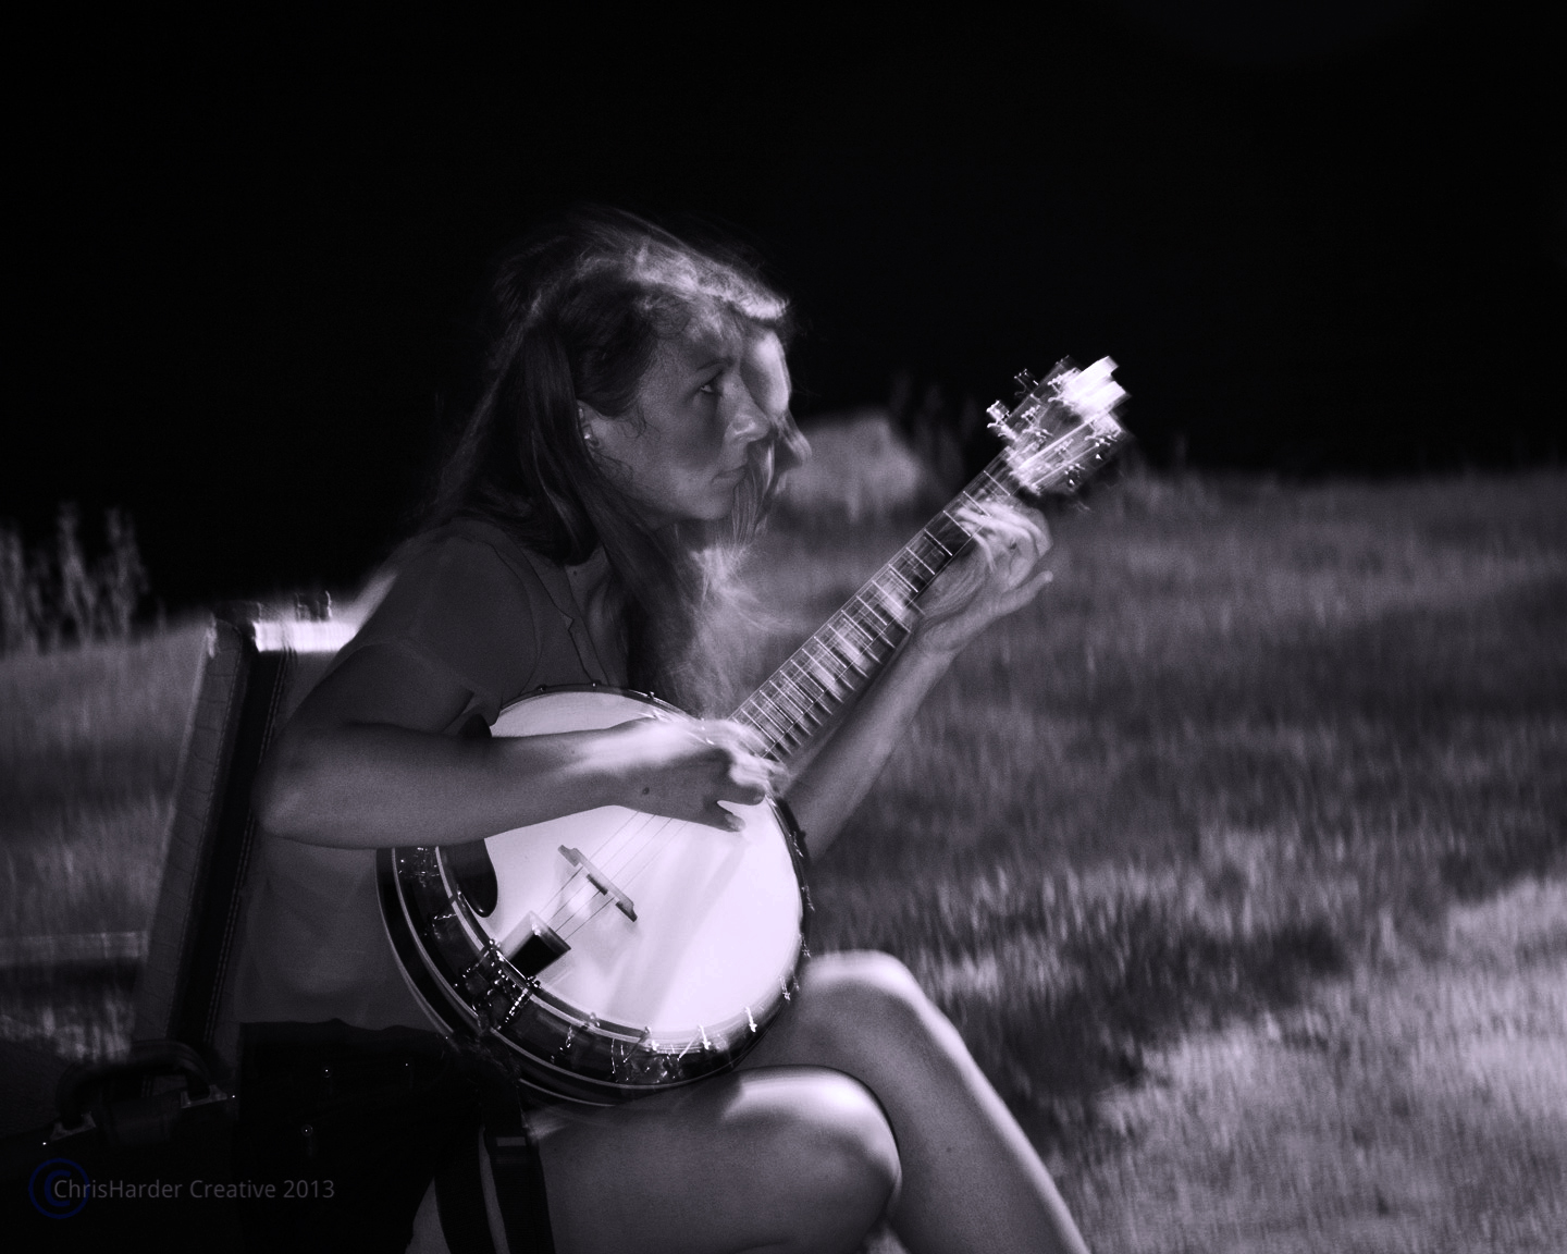
[[[694, 320], [700, 321], [700, 320]], [[716, 522], [788, 415], [784, 345], [755, 326], [693, 326], [666, 340], [622, 419], [583, 406], [591, 448], [649, 527]]]

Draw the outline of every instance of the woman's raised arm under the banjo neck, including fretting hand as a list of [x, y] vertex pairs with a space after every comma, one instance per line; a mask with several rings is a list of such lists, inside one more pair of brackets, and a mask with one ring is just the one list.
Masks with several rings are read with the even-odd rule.
[[914, 635], [788, 785], [790, 809], [820, 854], [870, 792], [926, 693], [953, 658], [995, 619], [1020, 610], [1050, 582], [1050, 549], [1036, 511], [992, 508], [975, 544], [926, 591]]

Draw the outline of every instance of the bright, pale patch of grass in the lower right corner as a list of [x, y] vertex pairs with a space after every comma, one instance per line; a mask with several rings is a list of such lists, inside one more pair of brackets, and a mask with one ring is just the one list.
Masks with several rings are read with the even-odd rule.
[[1189, 1036], [1111, 1094], [1069, 1172], [1095, 1248], [1498, 1251], [1567, 1234], [1567, 884], [1453, 909], [1277, 1016]]

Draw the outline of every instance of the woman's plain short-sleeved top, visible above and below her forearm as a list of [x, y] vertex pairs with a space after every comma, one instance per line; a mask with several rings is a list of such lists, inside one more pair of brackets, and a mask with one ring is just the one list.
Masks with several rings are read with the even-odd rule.
[[[456, 734], [539, 687], [625, 687], [625, 638], [602, 549], [559, 566], [506, 531], [459, 519], [417, 539], [385, 599], [332, 661], [415, 649], [469, 693]], [[259, 832], [246, 881], [233, 1014], [240, 1022], [431, 1028], [403, 975], [376, 892], [375, 850]]]

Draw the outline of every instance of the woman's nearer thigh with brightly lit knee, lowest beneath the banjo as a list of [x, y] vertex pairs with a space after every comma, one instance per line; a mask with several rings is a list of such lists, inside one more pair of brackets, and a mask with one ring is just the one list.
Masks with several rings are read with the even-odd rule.
[[896, 1179], [892, 1132], [838, 1072], [746, 1069], [539, 1138], [561, 1254], [852, 1251]]

